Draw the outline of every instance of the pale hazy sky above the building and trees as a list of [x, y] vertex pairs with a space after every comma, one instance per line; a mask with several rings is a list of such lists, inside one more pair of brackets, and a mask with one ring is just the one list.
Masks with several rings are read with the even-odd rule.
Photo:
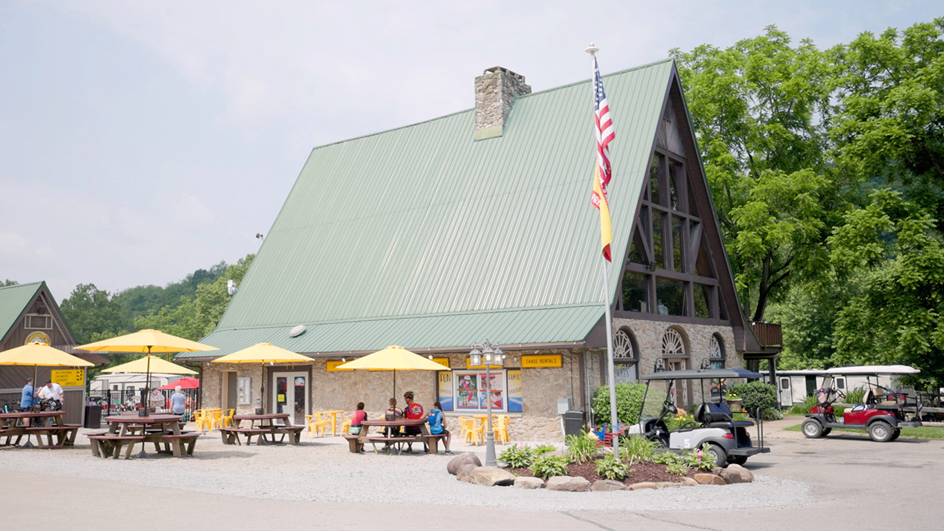
[[[0, 282], [109, 292], [256, 252], [313, 147], [776, 25], [820, 48], [936, 2], [0, 2]], [[588, 94], [589, 101], [589, 94]], [[617, 125], [618, 126], [618, 125]], [[471, 127], [471, 126], [470, 126]], [[618, 131], [617, 131], [618, 132]]]

